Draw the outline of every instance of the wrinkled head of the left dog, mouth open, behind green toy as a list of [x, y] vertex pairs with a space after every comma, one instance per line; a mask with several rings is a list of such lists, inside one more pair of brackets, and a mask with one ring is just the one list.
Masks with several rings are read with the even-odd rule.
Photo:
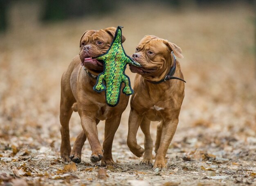
[[[83, 33], [80, 39], [80, 59], [85, 68], [94, 73], [103, 71], [103, 61], [93, 59], [103, 53], [106, 53], [115, 36], [116, 28], [109, 27], [98, 31], [88, 30]], [[122, 35], [122, 43], [125, 37]]]

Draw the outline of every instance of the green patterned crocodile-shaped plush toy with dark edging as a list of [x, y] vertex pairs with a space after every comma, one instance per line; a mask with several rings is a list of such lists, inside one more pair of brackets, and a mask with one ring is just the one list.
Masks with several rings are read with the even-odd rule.
[[108, 51], [105, 54], [95, 57], [96, 59], [103, 60], [104, 70], [99, 74], [93, 90], [97, 92], [102, 92], [105, 90], [106, 102], [112, 107], [115, 107], [119, 102], [123, 82], [125, 84], [123, 93], [126, 95], [133, 94], [130, 79], [124, 72], [127, 63], [138, 67], [141, 66], [139, 63], [133, 61], [128, 55], [126, 55], [121, 42], [121, 28], [123, 27], [117, 26], [115, 37]]

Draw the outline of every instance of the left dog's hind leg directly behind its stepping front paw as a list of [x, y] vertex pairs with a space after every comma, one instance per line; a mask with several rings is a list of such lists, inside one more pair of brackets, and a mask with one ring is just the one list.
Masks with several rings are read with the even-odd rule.
[[[97, 125], [98, 125], [98, 123], [99, 123], [99, 120], [96, 120]], [[81, 131], [79, 133], [79, 135], [76, 137], [76, 141], [75, 141], [72, 151], [70, 153], [70, 160], [72, 160], [72, 162], [75, 162], [75, 163], [81, 162], [82, 148], [83, 148], [83, 144], [85, 143], [86, 138], [87, 137], [85, 136], [84, 131]]]

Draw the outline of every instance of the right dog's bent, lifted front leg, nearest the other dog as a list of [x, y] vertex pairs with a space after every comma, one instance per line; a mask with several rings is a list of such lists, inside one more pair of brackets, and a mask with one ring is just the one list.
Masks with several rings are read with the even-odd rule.
[[137, 157], [141, 157], [144, 153], [144, 149], [139, 144], [137, 144], [136, 139], [137, 131], [139, 125], [141, 124], [142, 118], [143, 116], [139, 115], [134, 109], [130, 110], [127, 144], [130, 151]]

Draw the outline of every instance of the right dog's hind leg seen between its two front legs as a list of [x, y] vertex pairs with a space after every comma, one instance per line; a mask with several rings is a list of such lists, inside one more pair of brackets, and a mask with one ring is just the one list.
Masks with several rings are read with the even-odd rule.
[[144, 156], [143, 156], [143, 160], [141, 161], [141, 164], [153, 166], [152, 164], [153, 140], [150, 135], [150, 120], [144, 117], [140, 124], [140, 128], [145, 135], [145, 138], [144, 138], [145, 152], [144, 152]]

